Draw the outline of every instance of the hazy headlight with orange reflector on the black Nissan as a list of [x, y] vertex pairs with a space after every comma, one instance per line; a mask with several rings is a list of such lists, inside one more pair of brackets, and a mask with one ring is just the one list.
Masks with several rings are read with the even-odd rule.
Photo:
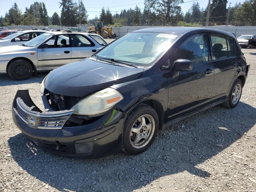
[[117, 90], [106, 88], [82, 99], [72, 109], [75, 110], [74, 114], [88, 116], [100, 115], [110, 110], [123, 98]]

